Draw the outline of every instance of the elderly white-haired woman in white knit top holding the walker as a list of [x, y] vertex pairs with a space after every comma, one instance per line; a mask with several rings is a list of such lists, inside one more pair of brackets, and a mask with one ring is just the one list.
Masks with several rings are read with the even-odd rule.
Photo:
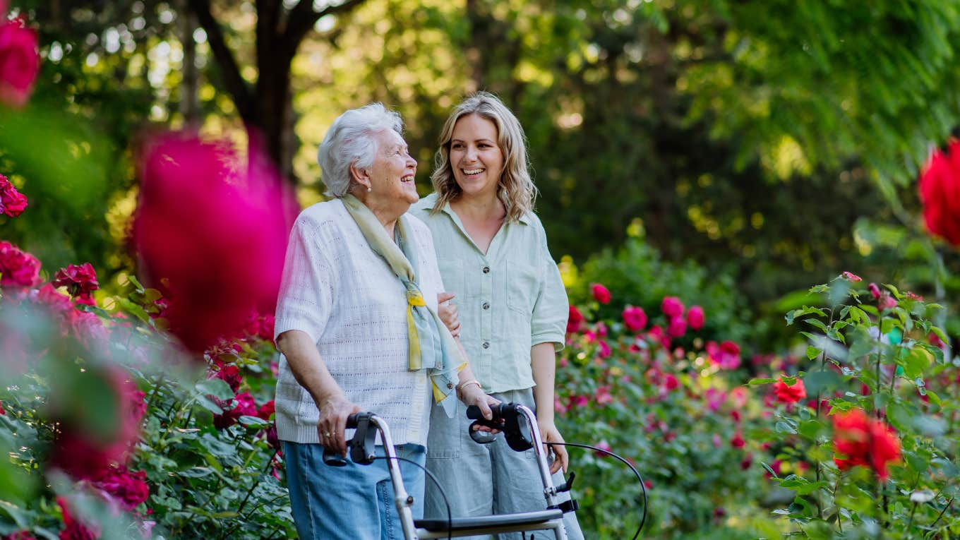
[[[452, 414], [459, 395], [489, 416], [495, 403], [458, 384], [473, 375], [436, 314], [443, 282], [430, 232], [404, 215], [420, 197], [401, 129], [380, 104], [338, 117], [318, 153], [332, 199], [303, 210], [290, 235], [276, 307], [276, 430], [300, 538], [402, 537], [382, 462], [324, 464], [324, 449], [347, 454], [349, 414], [378, 414], [396, 454], [422, 464], [433, 408]], [[400, 470], [419, 517], [423, 474], [403, 461]]]

